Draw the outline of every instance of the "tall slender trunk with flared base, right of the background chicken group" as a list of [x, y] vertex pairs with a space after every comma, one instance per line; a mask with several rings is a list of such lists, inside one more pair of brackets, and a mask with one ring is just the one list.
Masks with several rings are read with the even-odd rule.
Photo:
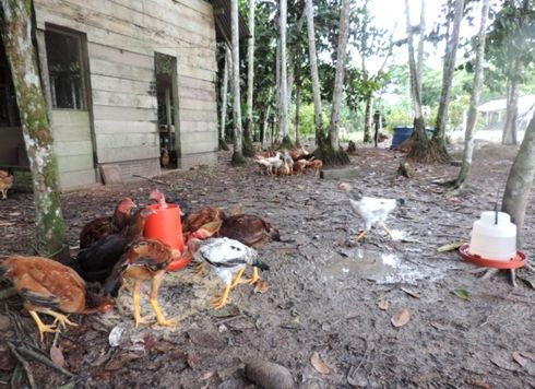
[[331, 110], [331, 125], [329, 127], [329, 140], [332, 150], [340, 148], [340, 108], [345, 75], [345, 57], [348, 38], [349, 0], [342, 0], [340, 12], [338, 44], [336, 48], [336, 73], [334, 75], [333, 106]]

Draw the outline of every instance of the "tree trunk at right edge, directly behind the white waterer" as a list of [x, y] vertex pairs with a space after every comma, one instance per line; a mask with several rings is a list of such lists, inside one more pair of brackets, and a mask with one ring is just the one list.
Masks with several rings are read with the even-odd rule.
[[511, 215], [511, 221], [516, 224], [516, 248], [523, 245], [522, 228], [530, 191], [535, 176], [535, 114], [527, 126], [524, 140], [514, 158], [503, 192], [501, 210]]

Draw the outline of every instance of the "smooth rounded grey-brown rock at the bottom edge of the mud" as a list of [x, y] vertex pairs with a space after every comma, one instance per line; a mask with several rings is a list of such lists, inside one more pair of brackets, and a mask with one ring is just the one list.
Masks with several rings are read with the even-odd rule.
[[294, 388], [292, 373], [281, 365], [268, 361], [251, 361], [246, 364], [246, 377], [264, 389]]

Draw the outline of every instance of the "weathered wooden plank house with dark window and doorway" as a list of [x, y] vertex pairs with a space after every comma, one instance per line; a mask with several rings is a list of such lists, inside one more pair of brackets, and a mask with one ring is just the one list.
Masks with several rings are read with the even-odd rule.
[[[230, 36], [225, 7], [203, 0], [34, 4], [62, 189], [100, 182], [106, 166], [118, 167], [123, 180], [160, 175], [163, 149], [174, 167], [216, 162], [216, 42]], [[27, 167], [13, 96], [0, 45], [0, 167]]]

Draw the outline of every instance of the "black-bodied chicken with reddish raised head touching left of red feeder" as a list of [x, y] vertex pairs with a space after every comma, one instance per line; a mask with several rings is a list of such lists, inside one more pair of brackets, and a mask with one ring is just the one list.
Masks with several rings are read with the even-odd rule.
[[142, 237], [146, 217], [154, 213], [148, 208], [138, 210], [120, 233], [107, 235], [81, 250], [76, 257], [80, 275], [85, 281], [103, 283], [128, 246]]

